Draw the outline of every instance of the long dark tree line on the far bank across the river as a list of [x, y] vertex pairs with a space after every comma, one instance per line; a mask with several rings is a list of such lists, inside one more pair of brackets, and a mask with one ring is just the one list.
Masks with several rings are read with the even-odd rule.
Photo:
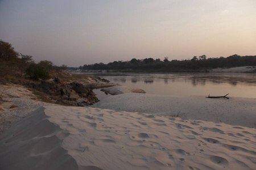
[[256, 56], [238, 56], [207, 58], [207, 56], [194, 56], [192, 59], [163, 61], [153, 58], [136, 59], [130, 61], [114, 61], [108, 64], [94, 63], [80, 66], [81, 70], [119, 70], [119, 71], [147, 71], [147, 72], [185, 72], [207, 71], [218, 67], [256, 66]]

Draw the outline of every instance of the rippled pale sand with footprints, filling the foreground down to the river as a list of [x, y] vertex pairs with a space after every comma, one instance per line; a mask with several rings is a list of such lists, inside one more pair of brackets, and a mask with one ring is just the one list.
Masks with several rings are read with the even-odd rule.
[[[14, 98], [20, 105], [25, 101], [28, 110], [38, 102], [23, 100], [22, 96]], [[29, 101], [31, 105], [28, 105]], [[165, 103], [162, 104], [163, 102]], [[147, 107], [139, 110], [139, 105], [147, 103]], [[201, 103], [201, 108], [197, 103]], [[179, 108], [184, 105], [192, 107], [191, 113], [181, 112], [183, 109], [180, 111]], [[103, 109], [107, 106], [117, 109]], [[174, 113], [190, 113], [186, 115], [187, 118], [197, 116], [205, 119], [207, 114], [213, 112], [220, 120], [226, 120], [224, 114], [218, 113], [226, 108], [226, 112], [240, 109], [243, 118], [246, 118], [241, 120], [249, 121], [254, 118], [251, 117], [251, 109], [255, 111], [255, 99], [123, 94], [101, 101], [98, 107], [102, 108], [46, 104], [31, 114], [23, 113], [25, 118], [0, 135], [0, 169], [256, 167], [255, 128], [229, 125], [240, 122], [237, 119], [225, 124], [156, 115], [170, 114], [163, 107], [167, 107], [168, 111], [171, 107]], [[134, 110], [124, 111], [129, 108]], [[137, 112], [135, 109], [138, 109]], [[206, 111], [207, 114], [204, 113]], [[234, 114], [238, 114], [238, 111]], [[213, 115], [210, 117], [214, 117]], [[253, 124], [253, 121], [248, 122], [250, 123]]]

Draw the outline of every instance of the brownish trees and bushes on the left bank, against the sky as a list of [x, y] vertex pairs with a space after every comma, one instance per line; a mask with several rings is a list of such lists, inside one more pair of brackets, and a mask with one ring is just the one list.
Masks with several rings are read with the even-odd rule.
[[0, 77], [7, 75], [27, 75], [31, 79], [49, 79], [49, 71], [61, 71], [67, 69], [67, 65], [56, 66], [51, 61], [43, 60], [35, 63], [32, 56], [15, 52], [9, 43], [0, 40]]

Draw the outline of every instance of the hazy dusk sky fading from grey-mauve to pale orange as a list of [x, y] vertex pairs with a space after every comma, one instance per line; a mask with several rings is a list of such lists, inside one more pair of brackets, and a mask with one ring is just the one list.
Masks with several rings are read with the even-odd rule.
[[0, 0], [0, 39], [36, 62], [256, 55], [255, 0]]

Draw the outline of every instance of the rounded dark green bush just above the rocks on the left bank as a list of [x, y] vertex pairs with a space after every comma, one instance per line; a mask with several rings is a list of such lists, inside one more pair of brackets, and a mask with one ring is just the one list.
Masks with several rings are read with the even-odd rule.
[[39, 64], [35, 64], [35, 63], [32, 63], [28, 66], [28, 68], [26, 70], [26, 74], [28, 76], [30, 76], [30, 78], [35, 79], [35, 80], [38, 80], [38, 79], [46, 80], [46, 79], [51, 78], [49, 76], [49, 73], [48, 73], [46, 67], [39, 65]]

